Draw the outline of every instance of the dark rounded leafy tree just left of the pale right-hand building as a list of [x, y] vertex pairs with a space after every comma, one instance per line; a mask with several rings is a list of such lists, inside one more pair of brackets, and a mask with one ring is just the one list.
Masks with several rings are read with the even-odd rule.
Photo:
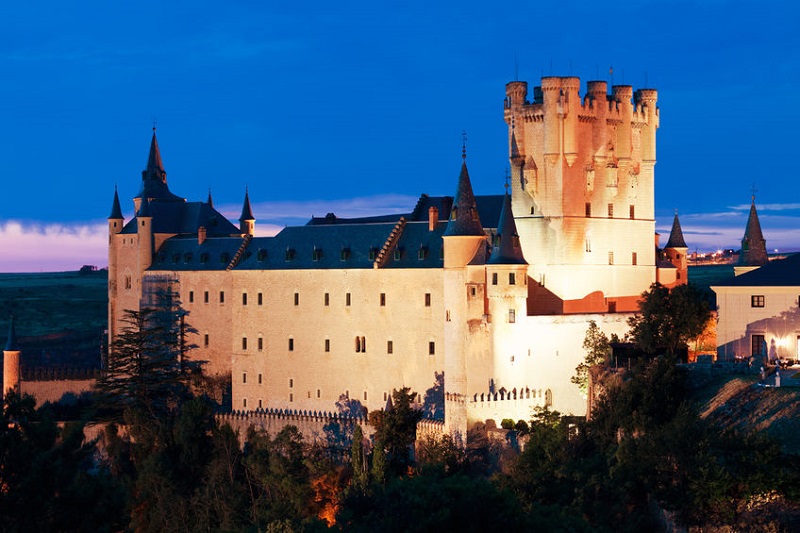
[[676, 354], [687, 342], [703, 333], [711, 318], [708, 302], [692, 285], [668, 289], [653, 283], [642, 293], [640, 312], [628, 319], [630, 339], [642, 350]]

